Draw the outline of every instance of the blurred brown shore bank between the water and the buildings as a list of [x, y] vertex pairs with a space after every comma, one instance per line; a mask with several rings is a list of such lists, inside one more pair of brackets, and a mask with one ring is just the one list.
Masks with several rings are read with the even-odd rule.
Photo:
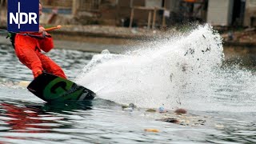
[[[139, 46], [157, 39], [170, 38], [171, 35], [174, 36], [180, 33], [177, 30], [130, 29], [115, 26], [62, 26], [59, 30], [50, 31], [56, 48], [94, 53], [100, 53], [105, 49], [110, 50], [110, 53], [122, 53], [130, 50], [130, 47]], [[224, 47], [256, 49], [256, 42], [254, 41], [229, 41], [226, 34], [221, 35]], [[11, 45], [5, 34], [0, 34], [0, 44]]]

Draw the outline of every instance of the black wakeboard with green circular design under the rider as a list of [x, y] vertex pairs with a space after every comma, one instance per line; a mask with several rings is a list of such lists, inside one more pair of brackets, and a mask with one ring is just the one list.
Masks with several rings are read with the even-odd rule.
[[90, 101], [95, 96], [83, 86], [48, 73], [40, 74], [27, 89], [46, 102]]

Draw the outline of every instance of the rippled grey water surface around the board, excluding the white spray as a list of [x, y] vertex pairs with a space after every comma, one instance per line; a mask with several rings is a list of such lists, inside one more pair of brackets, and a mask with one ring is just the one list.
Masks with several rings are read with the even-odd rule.
[[[80, 74], [93, 55], [50, 52], [70, 79]], [[231, 56], [218, 72], [222, 76], [211, 82], [214, 92], [204, 97], [206, 101], [200, 97], [204, 90], [195, 88], [189, 92], [197, 97], [187, 100], [193, 103], [188, 113], [174, 114], [178, 107], [168, 113], [149, 112], [140, 106], [123, 108], [114, 98], [104, 97], [68, 104], [43, 102], [20, 85], [33, 79], [30, 70], [18, 62], [10, 46], [0, 45], [0, 143], [255, 143], [256, 57], [245, 54], [237, 59], [242, 65], [237, 65]], [[164, 118], [178, 123], [160, 121]]]

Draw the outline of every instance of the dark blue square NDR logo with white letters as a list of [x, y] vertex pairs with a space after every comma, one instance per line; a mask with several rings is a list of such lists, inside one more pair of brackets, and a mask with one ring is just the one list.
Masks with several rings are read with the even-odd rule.
[[39, 0], [8, 0], [8, 31], [39, 30]]

